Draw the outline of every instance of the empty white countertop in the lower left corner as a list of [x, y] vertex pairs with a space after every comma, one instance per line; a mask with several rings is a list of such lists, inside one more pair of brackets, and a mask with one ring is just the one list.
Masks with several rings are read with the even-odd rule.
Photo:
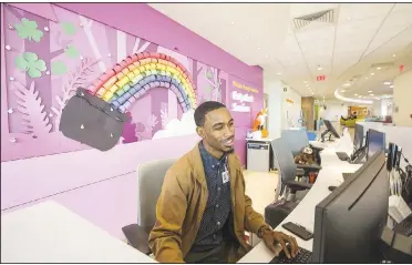
[[2, 214], [2, 263], [155, 263], [52, 201]]

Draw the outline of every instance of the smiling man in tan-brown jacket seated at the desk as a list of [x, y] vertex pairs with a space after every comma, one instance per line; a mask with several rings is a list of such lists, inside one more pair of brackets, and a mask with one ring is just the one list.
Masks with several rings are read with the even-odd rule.
[[274, 252], [280, 243], [286, 255], [295, 257], [296, 239], [274, 232], [245, 194], [229, 111], [219, 102], [204, 102], [195, 111], [195, 123], [203, 140], [167, 171], [157, 201], [156, 223], [148, 238], [155, 259], [234, 263], [251, 249], [245, 230]]

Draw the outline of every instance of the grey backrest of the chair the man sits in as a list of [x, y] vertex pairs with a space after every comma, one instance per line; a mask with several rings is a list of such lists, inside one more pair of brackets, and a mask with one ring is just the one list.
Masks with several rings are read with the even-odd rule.
[[177, 159], [156, 160], [137, 166], [137, 224], [154, 225], [156, 203], [161, 195], [163, 180], [167, 170]]

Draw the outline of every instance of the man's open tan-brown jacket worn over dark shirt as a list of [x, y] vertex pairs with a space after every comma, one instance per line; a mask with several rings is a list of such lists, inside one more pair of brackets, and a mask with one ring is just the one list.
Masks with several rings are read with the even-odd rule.
[[[229, 262], [238, 261], [250, 251], [245, 230], [257, 234], [267, 226], [264, 217], [251, 207], [245, 194], [245, 180], [236, 154], [228, 155], [234, 234], [239, 247], [230, 249]], [[161, 263], [184, 263], [205, 212], [208, 197], [202, 156], [196, 145], [166, 173], [156, 206], [156, 223], [148, 245]]]

